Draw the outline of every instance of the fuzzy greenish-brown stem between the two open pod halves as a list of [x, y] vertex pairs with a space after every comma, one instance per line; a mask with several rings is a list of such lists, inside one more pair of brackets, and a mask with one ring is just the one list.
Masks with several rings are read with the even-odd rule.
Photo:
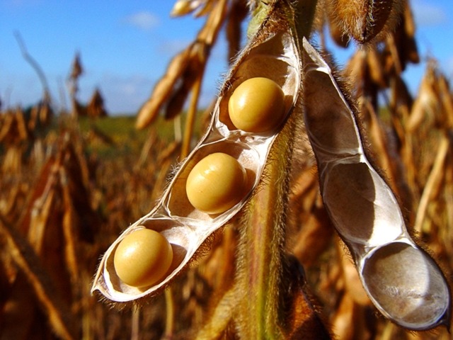
[[251, 198], [239, 240], [241, 339], [280, 339], [280, 286], [295, 117], [280, 132]]

